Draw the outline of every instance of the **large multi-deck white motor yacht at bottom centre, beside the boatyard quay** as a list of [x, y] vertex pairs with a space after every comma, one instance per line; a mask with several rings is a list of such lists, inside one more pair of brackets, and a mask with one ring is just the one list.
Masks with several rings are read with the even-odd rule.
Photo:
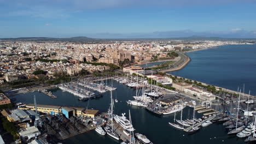
[[122, 116], [115, 115], [114, 119], [117, 123], [121, 125], [124, 129], [128, 131], [134, 131], [131, 122], [125, 117], [125, 113], [122, 113]]

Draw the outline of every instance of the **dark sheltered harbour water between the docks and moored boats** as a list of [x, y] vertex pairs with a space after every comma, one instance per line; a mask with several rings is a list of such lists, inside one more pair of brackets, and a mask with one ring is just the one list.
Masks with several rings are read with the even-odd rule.
[[[108, 82], [109, 83], [109, 82]], [[137, 106], [130, 106], [126, 104], [126, 100], [132, 99], [132, 96], [136, 94], [132, 88], [126, 85], [121, 85], [116, 81], [113, 81], [113, 87], [117, 87], [117, 90], [113, 92], [113, 98], [118, 99], [118, 103], [114, 105], [114, 113], [121, 115], [126, 113], [128, 116], [129, 110], [131, 110], [132, 124], [135, 127], [135, 133], [144, 134], [153, 143], [164, 144], [164, 143], [244, 143], [243, 139], [238, 139], [236, 136], [229, 136], [228, 131], [222, 124], [214, 123], [208, 127], [200, 129], [193, 135], [188, 135], [184, 131], [174, 129], [168, 122], [173, 122], [174, 114], [159, 117], [153, 113], [148, 112], [146, 109]], [[68, 92], [62, 92], [59, 88], [51, 89], [56, 99], [51, 99], [43, 93], [33, 92], [27, 94], [17, 94], [13, 98], [17, 102], [22, 103], [33, 103], [33, 94], [37, 96], [37, 104], [45, 105], [65, 105], [65, 106], [81, 106], [89, 109], [97, 109], [102, 112], [107, 112], [110, 104], [110, 92], [103, 94], [102, 98], [90, 100], [90, 101], [79, 101], [78, 97]], [[89, 103], [89, 105], [88, 105]], [[176, 118], [179, 119], [181, 112], [176, 113]], [[193, 116], [193, 109], [186, 107], [183, 112], [183, 118]], [[201, 117], [198, 113], [197, 117]], [[102, 143], [120, 143], [109, 136], [98, 135], [94, 130], [88, 133], [80, 134], [70, 139], [66, 139], [63, 143], [88, 143], [88, 144], [102, 144]]]

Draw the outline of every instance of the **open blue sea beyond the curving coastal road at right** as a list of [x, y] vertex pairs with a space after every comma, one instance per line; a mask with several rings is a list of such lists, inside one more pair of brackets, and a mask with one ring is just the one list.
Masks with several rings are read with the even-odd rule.
[[191, 62], [169, 74], [256, 95], [256, 45], [224, 45], [219, 49], [189, 52]]

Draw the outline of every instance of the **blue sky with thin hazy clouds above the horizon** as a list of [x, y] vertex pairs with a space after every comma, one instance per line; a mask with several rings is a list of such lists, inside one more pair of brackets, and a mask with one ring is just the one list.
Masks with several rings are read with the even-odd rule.
[[256, 0], [0, 0], [0, 38], [256, 38]]

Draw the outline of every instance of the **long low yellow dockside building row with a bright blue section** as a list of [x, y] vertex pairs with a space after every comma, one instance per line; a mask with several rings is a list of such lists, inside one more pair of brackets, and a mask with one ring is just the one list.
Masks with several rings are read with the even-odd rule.
[[[23, 110], [36, 110], [34, 104], [27, 104], [24, 107], [19, 107]], [[50, 115], [59, 115], [63, 113], [67, 118], [72, 116], [88, 116], [95, 117], [98, 110], [86, 110], [84, 107], [56, 106], [56, 105], [37, 105], [37, 110]]]

